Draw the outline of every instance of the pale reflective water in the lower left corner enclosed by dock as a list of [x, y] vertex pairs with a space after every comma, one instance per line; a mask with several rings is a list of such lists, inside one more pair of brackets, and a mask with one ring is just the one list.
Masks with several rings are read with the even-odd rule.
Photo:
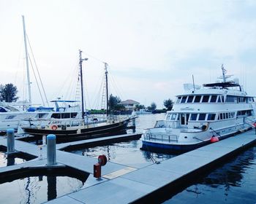
[[0, 203], [44, 203], [78, 191], [83, 182], [67, 176], [33, 176], [0, 184]]

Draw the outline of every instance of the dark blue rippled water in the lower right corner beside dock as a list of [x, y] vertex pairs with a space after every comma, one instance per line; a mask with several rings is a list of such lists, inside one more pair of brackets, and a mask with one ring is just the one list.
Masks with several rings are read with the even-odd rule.
[[255, 203], [256, 146], [225, 161], [165, 203]]

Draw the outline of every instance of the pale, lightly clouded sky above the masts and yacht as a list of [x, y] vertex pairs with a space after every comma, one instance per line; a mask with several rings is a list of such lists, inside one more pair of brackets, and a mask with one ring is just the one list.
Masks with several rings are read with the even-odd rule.
[[29, 68], [32, 103], [42, 103], [37, 69], [48, 101], [78, 98], [78, 50], [88, 58], [87, 109], [101, 106], [104, 62], [110, 93], [157, 109], [183, 93], [192, 75], [197, 85], [216, 82], [222, 64], [256, 95], [255, 10], [256, 1], [246, 0], [0, 0], [0, 84], [28, 98], [24, 15], [37, 63]]

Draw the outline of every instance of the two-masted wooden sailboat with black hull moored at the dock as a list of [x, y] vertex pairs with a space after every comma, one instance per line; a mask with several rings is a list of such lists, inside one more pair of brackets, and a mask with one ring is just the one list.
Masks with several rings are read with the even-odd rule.
[[[105, 80], [106, 80], [106, 99], [107, 99], [107, 119], [99, 121], [97, 118], [88, 117], [84, 111], [84, 98], [83, 98], [83, 70], [82, 63], [87, 58], [82, 58], [82, 51], [79, 50], [79, 64], [80, 64], [80, 87], [81, 87], [81, 119], [77, 122], [72, 122], [71, 114], [67, 111], [59, 112], [58, 117], [49, 119], [48, 124], [42, 125], [42, 118], [33, 121], [33, 124], [20, 125], [23, 132], [29, 135], [42, 136], [54, 134], [57, 138], [95, 138], [106, 135], [113, 135], [114, 133], [124, 132], [127, 129], [129, 120], [132, 117], [116, 118], [109, 115], [109, 101], [108, 101], [108, 67], [105, 63]], [[69, 114], [67, 116], [67, 114]]]

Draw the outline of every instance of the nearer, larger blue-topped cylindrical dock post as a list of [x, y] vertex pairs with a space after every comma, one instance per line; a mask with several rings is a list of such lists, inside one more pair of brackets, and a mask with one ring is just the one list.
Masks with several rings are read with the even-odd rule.
[[47, 136], [47, 165], [56, 165], [56, 136]]

